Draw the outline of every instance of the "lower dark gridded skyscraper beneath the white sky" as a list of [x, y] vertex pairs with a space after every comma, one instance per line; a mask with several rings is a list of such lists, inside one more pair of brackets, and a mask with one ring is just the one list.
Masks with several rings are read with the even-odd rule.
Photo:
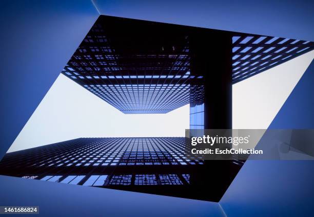
[[[186, 156], [184, 149], [184, 137], [79, 138], [8, 153], [0, 162], [0, 172], [49, 182], [218, 201], [228, 182], [204, 194], [202, 189], [213, 181], [203, 180], [204, 161]], [[232, 180], [239, 163], [228, 161], [232, 173], [224, 177]]]

